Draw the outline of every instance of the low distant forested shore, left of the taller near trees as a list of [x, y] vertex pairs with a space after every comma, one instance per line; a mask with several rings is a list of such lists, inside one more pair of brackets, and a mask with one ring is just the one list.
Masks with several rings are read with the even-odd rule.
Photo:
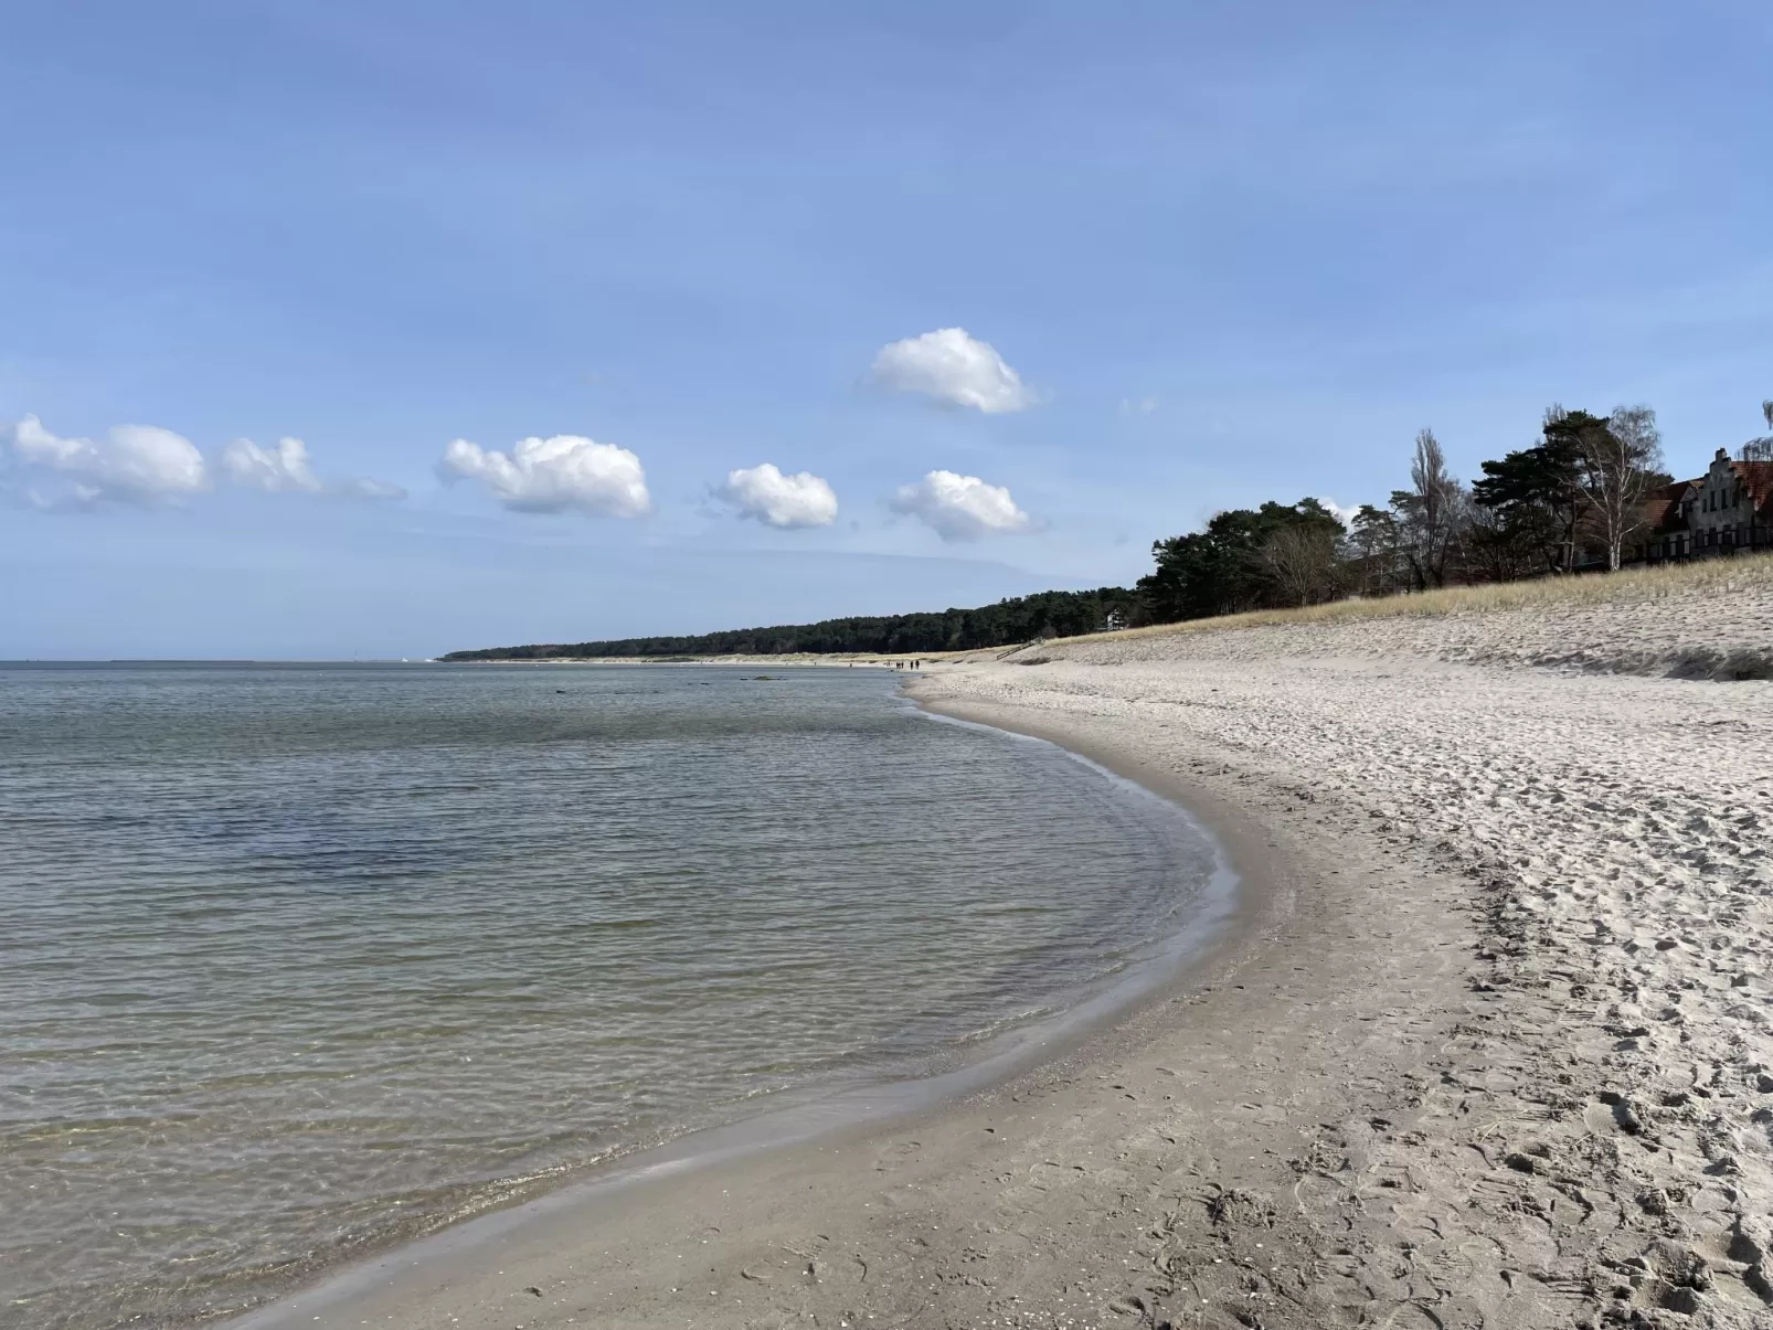
[[1043, 591], [975, 610], [862, 615], [816, 624], [734, 628], [697, 637], [624, 637], [612, 642], [539, 642], [452, 651], [440, 660], [598, 660], [605, 656], [789, 656], [796, 653], [915, 654], [1011, 647], [1039, 637], [1076, 637], [1133, 619], [1138, 596], [1122, 587]]

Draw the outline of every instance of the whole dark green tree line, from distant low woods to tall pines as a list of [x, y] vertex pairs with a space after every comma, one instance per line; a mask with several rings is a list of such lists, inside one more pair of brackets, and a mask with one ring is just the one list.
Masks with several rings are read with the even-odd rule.
[[[1773, 427], [1773, 403], [1762, 415]], [[1741, 458], [1773, 468], [1773, 438], [1750, 440]], [[1608, 571], [1631, 562], [1654, 521], [1652, 500], [1672, 486], [1649, 406], [1606, 417], [1551, 406], [1532, 443], [1480, 463], [1472, 484], [1449, 470], [1431, 429], [1417, 434], [1408, 465], [1408, 484], [1383, 507], [1346, 514], [1301, 498], [1218, 512], [1199, 532], [1156, 541], [1154, 567], [1133, 589], [1046, 591], [973, 610], [695, 637], [454, 651], [443, 660], [968, 651], [1346, 596]]]

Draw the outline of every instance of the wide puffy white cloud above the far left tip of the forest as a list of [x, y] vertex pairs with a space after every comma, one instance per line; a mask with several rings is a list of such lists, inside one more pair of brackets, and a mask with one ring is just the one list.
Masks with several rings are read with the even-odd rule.
[[457, 438], [445, 449], [438, 473], [445, 481], [479, 481], [514, 512], [578, 509], [638, 518], [652, 507], [640, 458], [578, 434], [525, 438], [509, 456]]

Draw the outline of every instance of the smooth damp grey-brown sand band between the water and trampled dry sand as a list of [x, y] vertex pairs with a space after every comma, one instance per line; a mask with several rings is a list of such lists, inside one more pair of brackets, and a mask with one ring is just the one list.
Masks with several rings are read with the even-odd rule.
[[229, 1330], [1051, 1330], [1156, 1323], [1183, 1289], [1195, 1325], [1335, 1323], [1284, 1213], [1301, 1140], [1372, 1131], [1452, 1037], [1463, 885], [1399, 862], [1356, 810], [1273, 800], [1254, 766], [1177, 770], [1103, 718], [931, 697], [929, 677], [913, 692], [1181, 794], [1239, 871], [1234, 926], [1167, 991], [1002, 1084], [652, 1177], [644, 1202], [537, 1213], [441, 1263], [395, 1250], [342, 1300], [321, 1300], [335, 1280]]

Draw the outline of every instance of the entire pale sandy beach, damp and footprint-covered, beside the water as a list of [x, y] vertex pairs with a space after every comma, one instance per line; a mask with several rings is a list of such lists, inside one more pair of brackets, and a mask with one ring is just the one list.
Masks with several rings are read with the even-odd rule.
[[1211, 954], [961, 1103], [250, 1325], [1773, 1325], [1773, 685], [1665, 677], [1769, 631], [1695, 592], [938, 667], [1215, 828]]

